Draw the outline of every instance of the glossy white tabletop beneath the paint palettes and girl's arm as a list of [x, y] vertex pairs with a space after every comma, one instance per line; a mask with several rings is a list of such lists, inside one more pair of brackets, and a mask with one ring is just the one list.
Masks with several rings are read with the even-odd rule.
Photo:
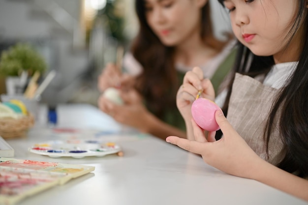
[[46, 140], [50, 132], [35, 126], [27, 139], [7, 141], [16, 158], [83, 164], [95, 170], [18, 205], [308, 205], [257, 181], [222, 173], [201, 157], [162, 140], [122, 129], [90, 105], [62, 105], [58, 115], [59, 126], [118, 132], [106, 137], [121, 145], [124, 156], [55, 159], [33, 154], [28, 146]]

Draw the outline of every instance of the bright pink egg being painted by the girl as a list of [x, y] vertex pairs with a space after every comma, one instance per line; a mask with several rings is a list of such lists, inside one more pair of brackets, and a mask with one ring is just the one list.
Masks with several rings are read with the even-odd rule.
[[215, 119], [216, 110], [221, 110], [215, 102], [198, 98], [191, 105], [191, 115], [195, 122], [207, 131], [219, 130], [219, 125]]

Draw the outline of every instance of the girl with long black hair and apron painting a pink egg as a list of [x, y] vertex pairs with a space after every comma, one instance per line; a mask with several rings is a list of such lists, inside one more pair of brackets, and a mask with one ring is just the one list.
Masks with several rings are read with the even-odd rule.
[[308, 201], [308, 2], [219, 1], [229, 9], [239, 41], [222, 108], [227, 119], [216, 111], [223, 137], [216, 141], [215, 132], [204, 133], [191, 120], [198, 90], [203, 97], [215, 97], [196, 68], [185, 75], [177, 98], [190, 141], [174, 136], [166, 141], [201, 154], [226, 173]]

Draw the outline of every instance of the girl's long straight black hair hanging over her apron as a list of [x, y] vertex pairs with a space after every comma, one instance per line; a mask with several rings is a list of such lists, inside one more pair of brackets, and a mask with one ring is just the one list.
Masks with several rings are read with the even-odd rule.
[[[218, 0], [223, 4], [223, 0]], [[289, 34], [288, 42], [294, 37], [295, 32], [303, 31], [301, 35], [302, 46], [299, 62], [290, 76], [288, 84], [281, 89], [277, 99], [274, 101], [268, 116], [265, 130], [264, 141], [268, 154], [268, 146], [271, 133], [275, 127], [276, 113], [281, 109], [279, 120], [279, 131], [281, 140], [284, 144], [285, 156], [277, 165], [280, 169], [289, 173], [296, 173], [298, 176], [308, 176], [308, 13], [306, 0], [298, 1], [298, 13], [296, 20]], [[234, 67], [235, 72], [242, 73], [251, 77], [258, 74], [267, 74], [269, 69], [275, 64], [273, 56], [255, 56], [243, 44], [238, 42], [238, 54]], [[246, 69], [248, 68], [248, 69]], [[232, 83], [229, 84], [227, 99], [223, 106], [223, 111], [227, 115], [229, 99], [232, 91]]]

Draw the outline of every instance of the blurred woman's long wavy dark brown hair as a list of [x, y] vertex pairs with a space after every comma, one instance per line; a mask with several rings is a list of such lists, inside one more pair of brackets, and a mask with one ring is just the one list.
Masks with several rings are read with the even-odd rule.
[[[163, 45], [147, 22], [145, 1], [135, 0], [135, 10], [139, 32], [132, 43], [131, 52], [143, 67], [136, 88], [145, 97], [148, 108], [160, 117], [164, 109], [176, 108], [176, 92], [182, 82], [178, 82], [174, 48]], [[225, 42], [214, 37], [209, 3], [202, 7], [201, 12], [200, 35], [204, 43], [221, 50]]]

